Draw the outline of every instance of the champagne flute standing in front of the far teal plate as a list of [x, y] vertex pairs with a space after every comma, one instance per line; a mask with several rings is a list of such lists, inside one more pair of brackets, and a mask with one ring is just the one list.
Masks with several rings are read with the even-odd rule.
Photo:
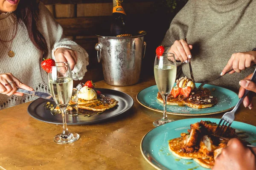
[[154, 62], [154, 77], [157, 83], [158, 91], [163, 98], [163, 118], [157, 119], [153, 122], [155, 127], [174, 121], [173, 119], [167, 118], [166, 103], [167, 97], [172, 91], [172, 87], [175, 83], [176, 72], [177, 67], [174, 54], [163, 53], [162, 56], [156, 55]]

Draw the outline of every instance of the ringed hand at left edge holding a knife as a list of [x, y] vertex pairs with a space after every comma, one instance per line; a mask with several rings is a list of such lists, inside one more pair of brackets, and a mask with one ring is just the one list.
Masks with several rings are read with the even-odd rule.
[[28, 91], [32, 91], [33, 88], [20, 82], [19, 79], [14, 77], [11, 73], [0, 74], [0, 93], [11, 96], [15, 94], [17, 96], [23, 96], [22, 93], [18, 93], [18, 88], [23, 88]]

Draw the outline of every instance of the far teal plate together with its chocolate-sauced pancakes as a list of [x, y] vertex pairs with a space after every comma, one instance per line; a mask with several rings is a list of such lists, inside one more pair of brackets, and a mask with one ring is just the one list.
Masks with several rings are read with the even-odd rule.
[[[201, 85], [201, 83], [195, 83], [195, 87], [199, 87], [199, 85]], [[210, 95], [203, 95], [207, 93], [210, 93]], [[193, 96], [195, 96], [195, 99], [193, 99]], [[197, 100], [197, 96], [200, 96], [199, 100]], [[179, 97], [182, 96], [168, 100], [167, 113], [186, 116], [221, 113], [231, 110], [239, 100], [238, 95], [235, 92], [208, 84], [204, 85], [203, 91], [198, 91], [195, 94], [192, 94], [192, 97], [189, 96], [183, 98], [182, 102], [179, 100]], [[145, 88], [137, 94], [137, 101], [144, 107], [154, 111], [163, 112], [163, 104], [161, 100], [156, 85]], [[198, 101], [200, 103], [198, 103]]]

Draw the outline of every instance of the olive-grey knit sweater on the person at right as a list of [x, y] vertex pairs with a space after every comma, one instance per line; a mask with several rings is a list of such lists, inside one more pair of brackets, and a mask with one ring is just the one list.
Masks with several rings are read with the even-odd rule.
[[[255, 9], [255, 0], [189, 0], [172, 20], [162, 45], [168, 48], [175, 40], [187, 38], [193, 45], [191, 64], [195, 82], [217, 77], [233, 53], [256, 47]], [[189, 65], [178, 65], [190, 77]], [[238, 91], [239, 80], [253, 71], [254, 68], [248, 68], [210, 84]]]

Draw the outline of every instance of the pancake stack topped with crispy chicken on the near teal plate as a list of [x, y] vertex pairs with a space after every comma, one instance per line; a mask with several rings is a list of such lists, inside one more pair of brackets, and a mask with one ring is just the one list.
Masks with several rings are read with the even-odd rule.
[[[212, 168], [221, 149], [227, 146], [227, 141], [212, 136], [217, 126], [210, 121], [196, 122], [190, 125], [188, 133], [169, 141], [169, 150], [178, 158], [193, 159], [202, 167]], [[230, 127], [223, 137], [237, 137], [235, 129]]]

